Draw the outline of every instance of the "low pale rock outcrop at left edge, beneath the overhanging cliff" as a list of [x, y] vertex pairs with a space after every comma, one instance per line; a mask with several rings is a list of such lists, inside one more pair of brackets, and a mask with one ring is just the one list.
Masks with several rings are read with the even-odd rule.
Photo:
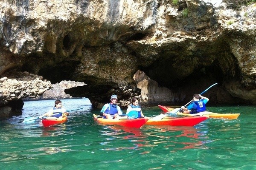
[[0, 79], [0, 120], [20, 115], [23, 98], [36, 97], [52, 88], [50, 81], [29, 72], [10, 71]]

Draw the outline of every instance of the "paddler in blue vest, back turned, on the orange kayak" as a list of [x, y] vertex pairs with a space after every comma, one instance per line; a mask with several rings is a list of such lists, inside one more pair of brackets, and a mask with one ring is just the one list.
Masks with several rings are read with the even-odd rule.
[[187, 108], [185, 108], [185, 106], [182, 106], [180, 108], [180, 112], [195, 114], [206, 111], [206, 103], [208, 101], [209, 99], [207, 97], [201, 96], [201, 94], [194, 94], [193, 102], [191, 102]]

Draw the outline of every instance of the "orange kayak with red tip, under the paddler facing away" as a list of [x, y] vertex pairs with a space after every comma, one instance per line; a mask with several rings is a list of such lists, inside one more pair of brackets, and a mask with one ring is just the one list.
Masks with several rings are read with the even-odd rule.
[[[162, 105], [158, 105], [158, 107], [165, 113], [174, 110], [174, 108], [170, 108], [170, 107], [166, 107], [166, 106], [162, 106]], [[185, 113], [178, 112], [177, 115], [208, 116], [209, 118], [215, 118], [215, 119], [237, 119], [239, 117], [240, 113], [213, 113], [213, 112], [205, 111], [205, 112], [200, 112], [200, 113], [196, 113], [196, 114], [185, 114]]]

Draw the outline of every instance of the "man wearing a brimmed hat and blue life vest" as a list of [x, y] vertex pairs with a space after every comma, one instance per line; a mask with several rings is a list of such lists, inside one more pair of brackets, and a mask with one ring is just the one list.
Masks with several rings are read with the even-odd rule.
[[118, 105], [116, 105], [118, 99], [115, 94], [111, 96], [110, 100], [111, 100], [110, 103], [107, 103], [103, 106], [99, 115], [104, 116], [104, 118], [107, 118], [107, 119], [115, 119], [119, 117], [119, 114], [122, 114], [122, 110]]

